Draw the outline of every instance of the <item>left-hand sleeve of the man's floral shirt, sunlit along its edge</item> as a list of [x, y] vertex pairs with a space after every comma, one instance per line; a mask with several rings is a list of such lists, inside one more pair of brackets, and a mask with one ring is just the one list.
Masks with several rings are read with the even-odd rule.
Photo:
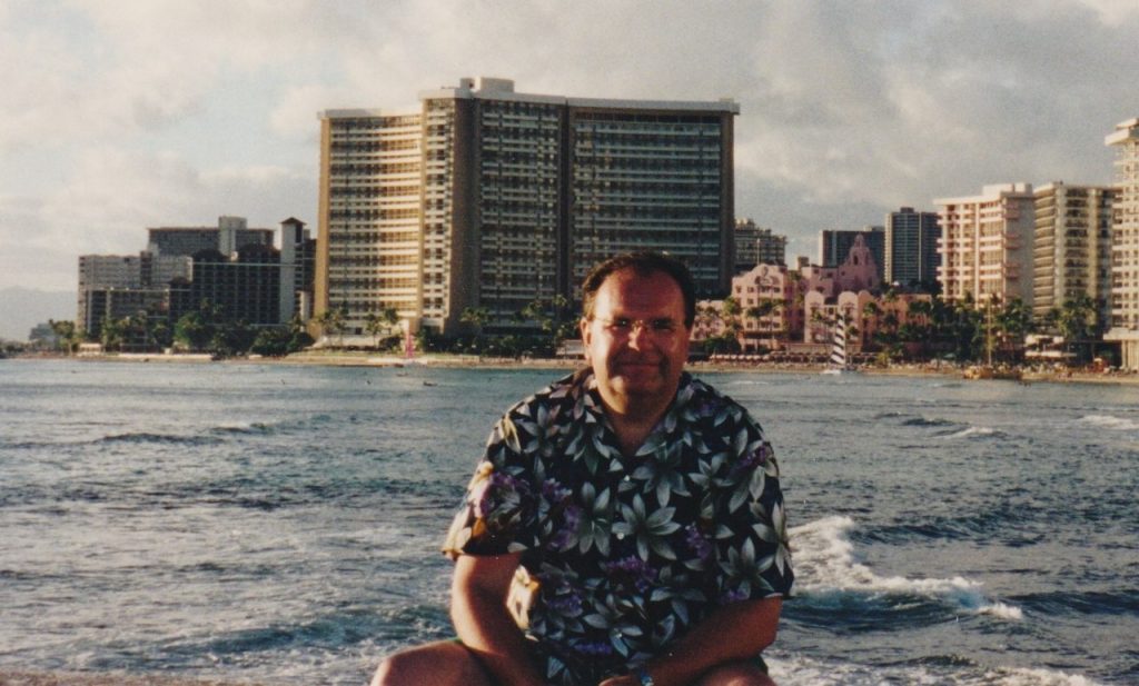
[[443, 544], [443, 553], [502, 555], [538, 546], [538, 493], [523, 464], [519, 429], [507, 414], [491, 431]]

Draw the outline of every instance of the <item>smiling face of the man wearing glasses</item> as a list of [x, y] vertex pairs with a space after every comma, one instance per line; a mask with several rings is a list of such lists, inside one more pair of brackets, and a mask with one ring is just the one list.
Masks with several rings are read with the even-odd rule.
[[593, 300], [591, 320], [582, 320], [585, 358], [593, 367], [601, 398], [617, 412], [672, 402], [688, 359], [690, 331], [685, 298], [667, 274], [609, 274]]

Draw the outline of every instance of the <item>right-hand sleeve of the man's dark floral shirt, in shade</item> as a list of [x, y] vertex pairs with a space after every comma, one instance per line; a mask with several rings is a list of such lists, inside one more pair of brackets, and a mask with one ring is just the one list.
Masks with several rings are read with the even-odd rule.
[[795, 575], [779, 464], [771, 444], [746, 412], [720, 429], [726, 441], [714, 498], [715, 575], [721, 604], [789, 595]]

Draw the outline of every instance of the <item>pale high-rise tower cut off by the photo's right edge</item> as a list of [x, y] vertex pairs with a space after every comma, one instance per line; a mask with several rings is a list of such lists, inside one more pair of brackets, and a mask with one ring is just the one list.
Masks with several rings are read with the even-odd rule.
[[1104, 340], [1117, 341], [1121, 365], [1139, 371], [1139, 118], [1117, 124], [1104, 143], [1118, 150], [1112, 222], [1112, 322]]

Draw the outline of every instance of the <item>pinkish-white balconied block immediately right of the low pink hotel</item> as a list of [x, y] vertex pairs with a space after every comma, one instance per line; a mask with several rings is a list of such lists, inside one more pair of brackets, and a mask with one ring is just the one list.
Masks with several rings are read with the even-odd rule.
[[985, 185], [980, 196], [942, 198], [942, 297], [978, 303], [1021, 298], [1032, 305], [1034, 197], [1030, 183]]

